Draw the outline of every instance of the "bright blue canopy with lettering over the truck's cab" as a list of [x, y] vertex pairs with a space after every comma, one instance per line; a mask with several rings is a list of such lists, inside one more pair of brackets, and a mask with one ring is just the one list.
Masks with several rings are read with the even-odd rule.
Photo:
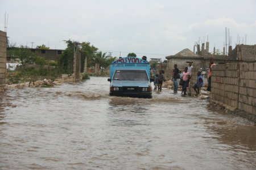
[[110, 65], [110, 79], [113, 78], [115, 70], [122, 69], [143, 69], [146, 70], [148, 78], [150, 78], [150, 64], [141, 58], [122, 57], [112, 62], [112, 64]]

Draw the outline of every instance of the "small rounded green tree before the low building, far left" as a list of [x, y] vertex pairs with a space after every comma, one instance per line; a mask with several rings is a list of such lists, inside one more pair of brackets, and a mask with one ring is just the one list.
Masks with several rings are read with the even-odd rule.
[[12, 58], [16, 62], [19, 62], [23, 67], [26, 64], [34, 63], [36, 57], [35, 53], [32, 53], [31, 49], [27, 48], [27, 46], [15, 48], [12, 50], [11, 56], [13, 56]]

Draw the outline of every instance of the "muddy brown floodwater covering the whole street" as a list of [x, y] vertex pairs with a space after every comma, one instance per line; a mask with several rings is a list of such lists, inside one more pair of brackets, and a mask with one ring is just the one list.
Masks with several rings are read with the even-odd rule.
[[106, 78], [0, 98], [0, 169], [255, 169], [256, 126], [166, 88], [108, 95]]

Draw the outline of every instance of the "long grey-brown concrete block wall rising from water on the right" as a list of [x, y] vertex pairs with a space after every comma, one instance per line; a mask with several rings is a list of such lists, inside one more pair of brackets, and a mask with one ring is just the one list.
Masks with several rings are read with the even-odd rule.
[[256, 63], [213, 66], [210, 99], [256, 122]]

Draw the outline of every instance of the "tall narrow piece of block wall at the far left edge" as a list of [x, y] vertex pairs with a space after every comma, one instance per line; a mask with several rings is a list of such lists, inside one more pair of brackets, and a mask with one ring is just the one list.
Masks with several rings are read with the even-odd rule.
[[0, 31], [0, 86], [5, 84], [6, 79], [6, 32]]

